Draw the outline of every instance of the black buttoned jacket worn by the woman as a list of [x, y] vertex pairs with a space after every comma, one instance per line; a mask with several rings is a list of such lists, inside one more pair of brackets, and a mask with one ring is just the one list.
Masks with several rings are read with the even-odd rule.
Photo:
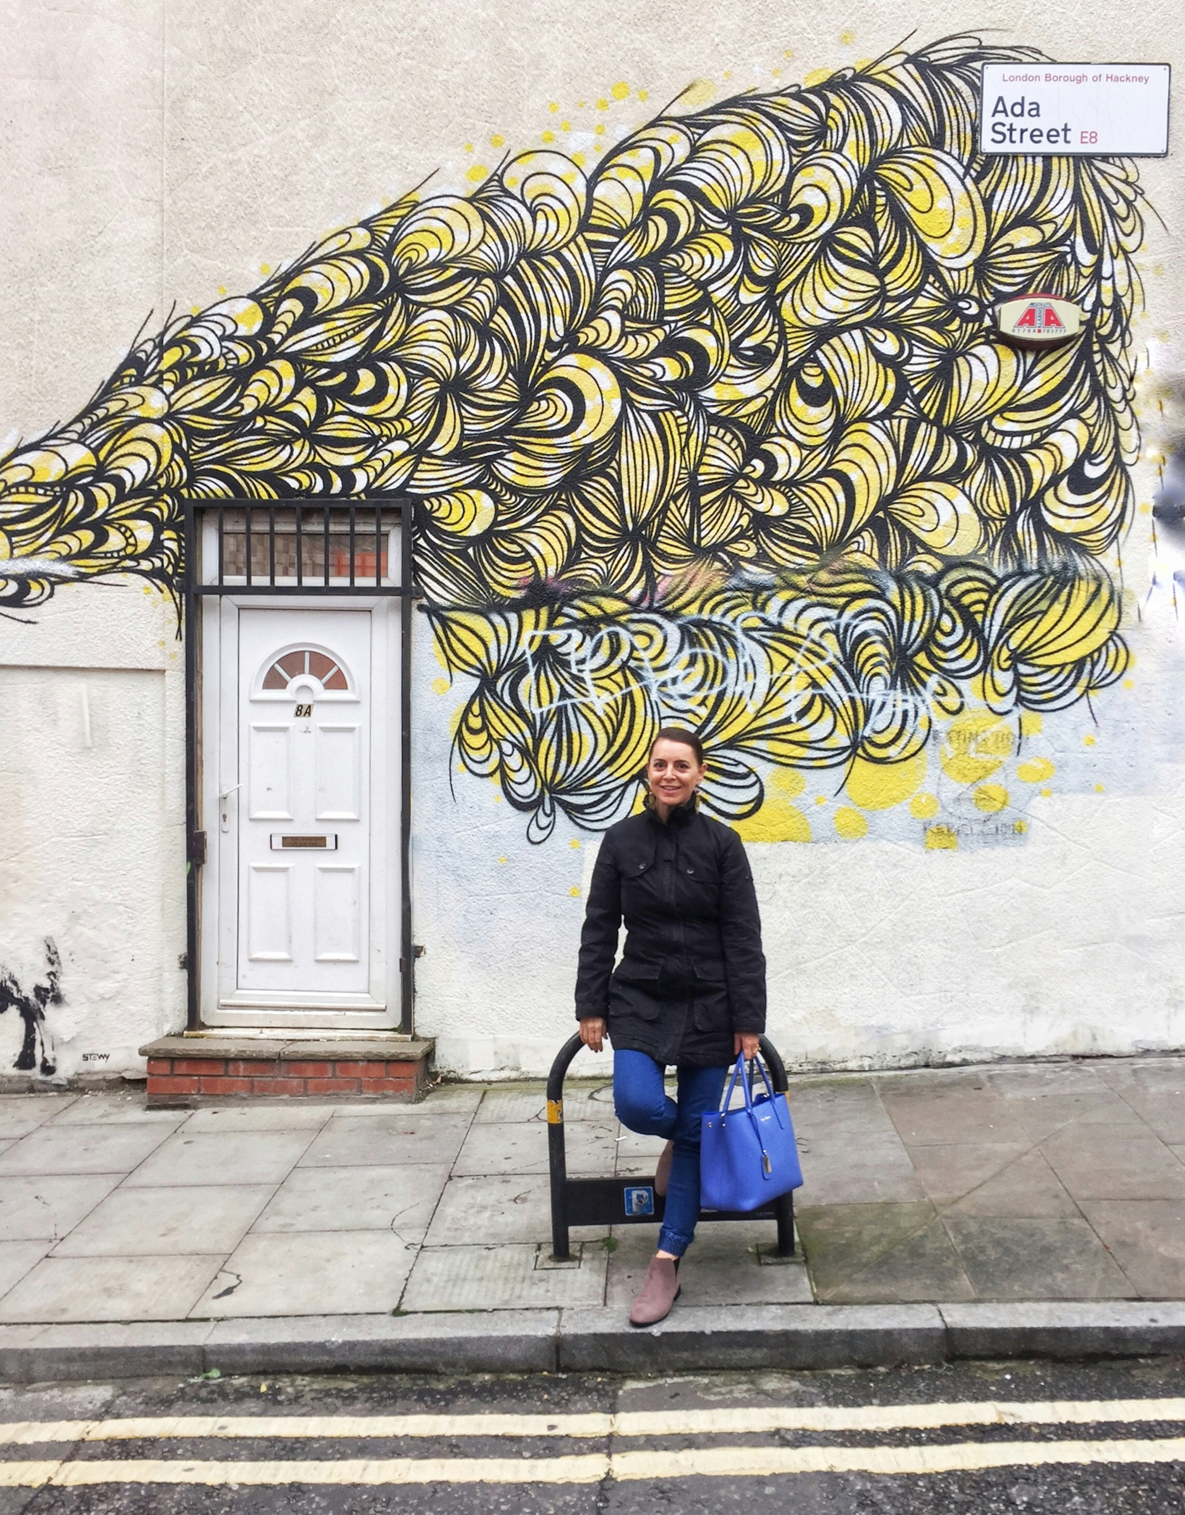
[[[626, 948], [617, 957], [624, 917]], [[765, 1030], [765, 956], [741, 838], [691, 804], [611, 826], [588, 891], [576, 1017], [615, 1048], [721, 1067], [733, 1032]]]

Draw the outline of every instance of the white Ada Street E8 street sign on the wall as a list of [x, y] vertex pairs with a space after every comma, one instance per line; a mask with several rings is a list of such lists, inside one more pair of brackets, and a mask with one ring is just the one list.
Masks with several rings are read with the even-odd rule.
[[1162, 158], [1168, 64], [985, 64], [979, 150]]

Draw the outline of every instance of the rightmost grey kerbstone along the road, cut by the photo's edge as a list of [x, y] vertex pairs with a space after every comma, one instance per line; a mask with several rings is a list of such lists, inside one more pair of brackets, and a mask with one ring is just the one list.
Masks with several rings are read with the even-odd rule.
[[1185, 1351], [1185, 1306], [1109, 1303], [941, 1304], [959, 1357], [1141, 1357]]

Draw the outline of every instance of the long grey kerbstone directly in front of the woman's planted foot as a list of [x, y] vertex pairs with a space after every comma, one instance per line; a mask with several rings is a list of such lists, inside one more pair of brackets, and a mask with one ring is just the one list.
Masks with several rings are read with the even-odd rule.
[[567, 1373], [683, 1373], [941, 1362], [943, 1317], [930, 1304], [840, 1307], [735, 1304], [683, 1307], [633, 1330], [620, 1309], [567, 1309], [559, 1367]]

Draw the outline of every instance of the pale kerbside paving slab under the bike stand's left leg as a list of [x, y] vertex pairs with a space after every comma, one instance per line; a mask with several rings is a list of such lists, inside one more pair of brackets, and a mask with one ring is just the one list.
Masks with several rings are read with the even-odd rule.
[[[546, 1245], [546, 1244], [544, 1244]], [[405, 1310], [547, 1309], [602, 1304], [608, 1253], [589, 1242], [579, 1268], [536, 1268], [539, 1248], [424, 1247], [400, 1301]]]

